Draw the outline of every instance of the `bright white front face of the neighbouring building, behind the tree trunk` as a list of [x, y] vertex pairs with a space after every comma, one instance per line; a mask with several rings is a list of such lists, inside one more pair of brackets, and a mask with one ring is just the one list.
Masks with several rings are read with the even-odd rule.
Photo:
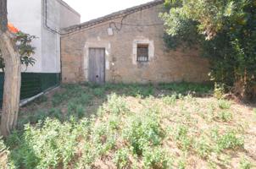
[[[36, 64], [29, 67], [26, 72], [41, 72], [42, 70], [42, 5], [41, 0], [8, 0], [8, 22], [14, 24], [19, 30], [36, 35], [32, 41], [36, 47]], [[25, 68], [22, 68], [23, 71]]]

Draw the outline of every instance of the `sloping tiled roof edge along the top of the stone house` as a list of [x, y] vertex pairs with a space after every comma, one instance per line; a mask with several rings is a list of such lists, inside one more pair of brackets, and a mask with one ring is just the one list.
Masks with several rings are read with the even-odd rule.
[[85, 28], [103, 23], [103, 22], [111, 20], [111, 19], [120, 18], [120, 17], [124, 16], [125, 14], [136, 13], [137, 11], [140, 11], [140, 10], [143, 10], [143, 9], [146, 9], [146, 8], [151, 8], [151, 7], [159, 5], [161, 3], [164, 3], [164, 0], [154, 0], [154, 1], [149, 2], [149, 3], [143, 3], [143, 4], [137, 5], [135, 7], [126, 8], [124, 10], [120, 10], [120, 11], [114, 12], [112, 14], [107, 14], [107, 15], [105, 15], [103, 17], [100, 17], [100, 18], [97, 18], [97, 19], [92, 19], [92, 20], [86, 21], [86, 22], [81, 23], [79, 25], [71, 25], [71, 26], [69, 26], [67, 28], [64, 28], [62, 30], [64, 31], [64, 33], [71, 33], [75, 30], [85, 29]]

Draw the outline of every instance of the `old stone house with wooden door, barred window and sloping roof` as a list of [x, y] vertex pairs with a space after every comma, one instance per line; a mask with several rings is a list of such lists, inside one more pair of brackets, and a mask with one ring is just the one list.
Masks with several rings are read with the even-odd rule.
[[63, 30], [62, 81], [160, 83], [208, 81], [196, 50], [164, 46], [163, 0], [127, 8]]

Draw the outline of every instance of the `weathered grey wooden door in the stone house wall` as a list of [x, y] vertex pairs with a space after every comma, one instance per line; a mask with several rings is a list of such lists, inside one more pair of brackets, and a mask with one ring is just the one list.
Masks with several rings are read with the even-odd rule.
[[89, 81], [105, 83], [105, 49], [89, 48]]

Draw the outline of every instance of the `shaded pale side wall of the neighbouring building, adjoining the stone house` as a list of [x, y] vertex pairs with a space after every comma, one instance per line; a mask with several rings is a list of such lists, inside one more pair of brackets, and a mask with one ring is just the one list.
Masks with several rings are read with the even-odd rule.
[[42, 0], [42, 3], [42, 72], [60, 73], [60, 35], [53, 30], [59, 32], [63, 27], [80, 24], [81, 17], [61, 0]]

